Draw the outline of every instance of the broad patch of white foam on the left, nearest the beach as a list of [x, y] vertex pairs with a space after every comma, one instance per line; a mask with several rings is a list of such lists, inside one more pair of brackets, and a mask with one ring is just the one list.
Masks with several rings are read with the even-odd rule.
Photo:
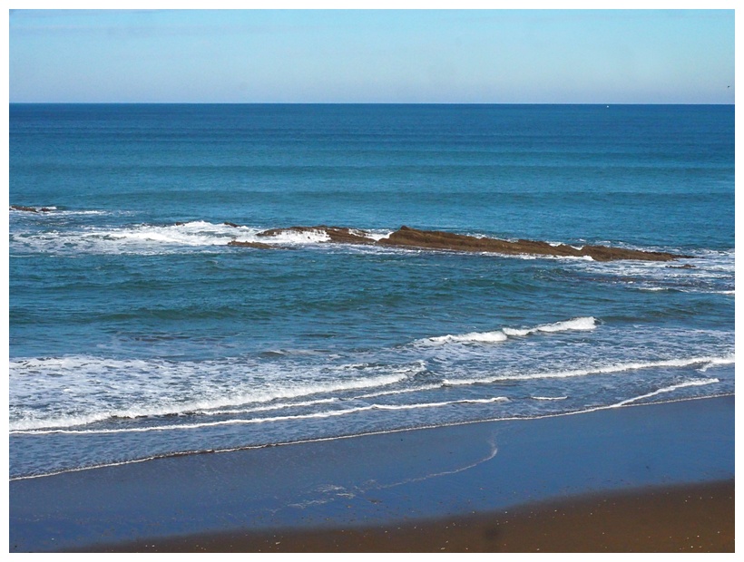
[[[9, 427], [13, 431], [72, 427], [114, 417], [127, 419], [259, 406], [314, 394], [372, 390], [405, 381], [425, 368], [421, 362], [393, 367], [357, 363], [303, 366], [302, 373], [295, 373], [292, 366], [244, 363], [240, 359], [170, 362], [87, 355], [16, 359], [9, 362], [9, 367], [12, 417]], [[354, 370], [353, 376], [334, 374], [349, 369]], [[213, 379], [216, 382], [212, 383]], [[51, 411], [48, 408], [27, 411], [22, 406], [45, 402], [45, 396], [57, 392], [65, 394], [65, 402], [54, 404]], [[271, 409], [276, 408], [272, 405]], [[70, 413], [73, 411], [76, 413]]]

